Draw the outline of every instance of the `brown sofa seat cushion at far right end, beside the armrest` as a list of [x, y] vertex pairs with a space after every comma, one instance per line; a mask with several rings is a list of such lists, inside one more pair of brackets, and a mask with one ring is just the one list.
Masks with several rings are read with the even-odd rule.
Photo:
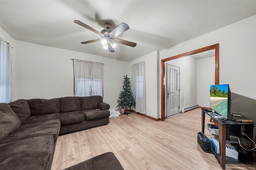
[[82, 112], [84, 113], [84, 120], [100, 119], [103, 117], [110, 116], [109, 110], [89, 109], [89, 110], [83, 110]]

